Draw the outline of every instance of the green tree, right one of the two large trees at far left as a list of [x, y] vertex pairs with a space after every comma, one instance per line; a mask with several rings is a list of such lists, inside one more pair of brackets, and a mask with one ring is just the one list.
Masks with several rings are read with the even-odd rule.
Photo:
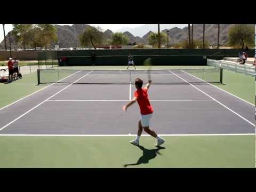
[[41, 29], [40, 37], [45, 49], [52, 45], [53, 42], [58, 41], [57, 29], [52, 24], [38, 24], [38, 28]]

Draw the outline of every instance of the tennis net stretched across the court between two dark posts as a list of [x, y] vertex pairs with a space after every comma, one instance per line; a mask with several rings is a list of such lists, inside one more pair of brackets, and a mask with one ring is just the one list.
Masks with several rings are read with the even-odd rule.
[[[154, 84], [222, 83], [221, 68], [149, 70]], [[135, 78], [148, 81], [148, 70], [38, 69], [38, 84], [130, 84]]]

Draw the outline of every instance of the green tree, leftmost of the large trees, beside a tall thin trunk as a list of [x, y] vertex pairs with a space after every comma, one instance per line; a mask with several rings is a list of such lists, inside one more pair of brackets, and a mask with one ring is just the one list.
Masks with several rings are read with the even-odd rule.
[[21, 43], [23, 49], [26, 50], [26, 45], [30, 44], [33, 24], [13, 24], [12, 26], [12, 35], [15, 41]]

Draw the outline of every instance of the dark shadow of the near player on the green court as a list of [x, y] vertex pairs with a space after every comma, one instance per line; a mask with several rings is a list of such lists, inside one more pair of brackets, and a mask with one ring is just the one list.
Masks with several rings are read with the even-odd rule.
[[143, 151], [143, 155], [138, 159], [137, 163], [125, 164], [124, 167], [134, 166], [140, 164], [147, 164], [151, 159], [154, 159], [157, 155], [162, 155], [159, 150], [165, 149], [165, 147], [157, 147], [156, 149], [146, 149], [143, 146], [137, 146]]

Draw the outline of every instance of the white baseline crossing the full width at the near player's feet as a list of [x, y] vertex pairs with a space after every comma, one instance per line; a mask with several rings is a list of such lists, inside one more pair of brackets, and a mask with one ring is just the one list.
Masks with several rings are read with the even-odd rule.
[[[227, 133], [227, 134], [158, 134], [159, 136], [232, 136], [232, 135], [255, 135], [255, 133]], [[135, 137], [137, 134], [0, 134], [0, 136], [25, 136], [25, 137]], [[151, 137], [149, 134], [142, 134], [143, 137]]]

